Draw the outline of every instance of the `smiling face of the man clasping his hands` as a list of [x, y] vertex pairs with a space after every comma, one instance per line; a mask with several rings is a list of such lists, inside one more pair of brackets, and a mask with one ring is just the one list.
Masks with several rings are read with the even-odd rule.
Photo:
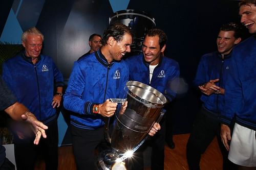
[[234, 31], [220, 31], [217, 37], [218, 52], [222, 56], [229, 54], [233, 46], [240, 42], [240, 39], [234, 37]]

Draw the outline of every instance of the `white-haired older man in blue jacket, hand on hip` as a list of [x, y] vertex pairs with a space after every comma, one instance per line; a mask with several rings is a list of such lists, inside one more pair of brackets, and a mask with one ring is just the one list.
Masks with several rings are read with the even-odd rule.
[[[62, 98], [63, 77], [53, 59], [40, 54], [44, 35], [30, 28], [22, 35], [25, 51], [3, 64], [3, 79], [16, 95], [19, 103], [46, 124], [47, 138], [38, 146], [33, 138], [21, 138], [14, 132], [14, 152], [17, 169], [34, 169], [39, 150], [43, 151], [46, 169], [58, 166], [58, 127], [55, 107]], [[55, 87], [54, 87], [55, 85]], [[54, 92], [56, 88], [56, 92]]]

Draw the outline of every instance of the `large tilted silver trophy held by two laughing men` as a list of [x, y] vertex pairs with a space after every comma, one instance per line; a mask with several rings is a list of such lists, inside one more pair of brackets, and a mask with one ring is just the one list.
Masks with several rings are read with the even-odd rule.
[[[99, 154], [99, 169], [125, 169], [123, 160], [131, 157], [144, 142], [166, 103], [162, 93], [140, 82], [127, 82], [125, 91], [127, 107], [123, 114], [115, 114], [111, 150]], [[123, 99], [116, 100], [123, 102]]]

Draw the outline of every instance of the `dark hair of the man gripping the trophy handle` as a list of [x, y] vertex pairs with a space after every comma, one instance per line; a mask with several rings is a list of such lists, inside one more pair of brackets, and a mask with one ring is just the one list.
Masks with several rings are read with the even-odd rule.
[[114, 37], [118, 42], [122, 41], [124, 34], [130, 34], [133, 36], [129, 27], [121, 23], [113, 23], [104, 31], [103, 38], [101, 40], [102, 45], [105, 45], [109, 37]]

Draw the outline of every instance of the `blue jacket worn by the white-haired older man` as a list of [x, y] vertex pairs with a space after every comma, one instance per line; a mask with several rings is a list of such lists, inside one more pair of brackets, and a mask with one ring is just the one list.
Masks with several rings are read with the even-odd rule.
[[36, 118], [48, 123], [56, 117], [52, 107], [54, 83], [63, 86], [63, 76], [53, 59], [40, 55], [35, 64], [24, 52], [3, 64], [3, 79], [16, 95], [18, 102], [24, 104]]

